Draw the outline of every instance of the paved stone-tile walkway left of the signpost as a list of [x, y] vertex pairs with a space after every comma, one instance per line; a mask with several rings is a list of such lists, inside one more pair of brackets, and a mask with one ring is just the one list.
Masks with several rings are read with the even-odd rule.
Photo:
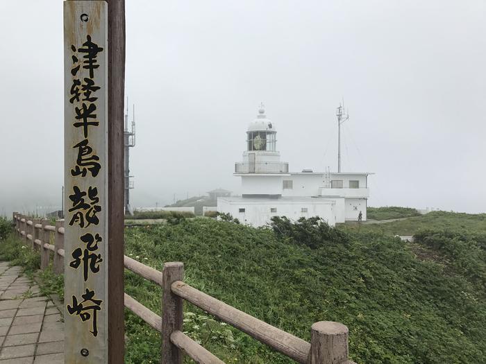
[[22, 267], [0, 262], [0, 364], [64, 363], [64, 324]]

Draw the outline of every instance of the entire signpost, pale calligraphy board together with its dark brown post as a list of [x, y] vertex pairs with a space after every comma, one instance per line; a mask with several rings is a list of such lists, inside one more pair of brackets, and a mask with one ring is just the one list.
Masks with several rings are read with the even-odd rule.
[[64, 2], [66, 363], [124, 363], [124, 9]]

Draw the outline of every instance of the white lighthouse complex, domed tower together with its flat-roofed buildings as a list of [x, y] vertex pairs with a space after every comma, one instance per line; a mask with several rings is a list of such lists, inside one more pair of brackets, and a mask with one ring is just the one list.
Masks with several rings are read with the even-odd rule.
[[297, 220], [319, 216], [329, 225], [346, 220], [366, 220], [368, 175], [372, 173], [289, 172], [276, 149], [276, 127], [260, 107], [258, 117], [246, 132], [243, 162], [235, 163], [242, 179], [241, 197], [220, 197], [217, 211], [258, 227], [272, 216]]

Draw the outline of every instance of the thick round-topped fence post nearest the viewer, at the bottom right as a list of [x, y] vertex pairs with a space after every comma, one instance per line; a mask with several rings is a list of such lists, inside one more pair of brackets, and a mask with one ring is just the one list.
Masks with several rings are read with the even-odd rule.
[[310, 331], [310, 364], [338, 364], [348, 360], [348, 328], [340, 322], [319, 321]]

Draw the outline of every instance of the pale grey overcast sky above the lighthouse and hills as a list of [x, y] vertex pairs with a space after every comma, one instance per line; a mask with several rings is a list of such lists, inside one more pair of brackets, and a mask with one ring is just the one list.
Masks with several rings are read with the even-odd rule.
[[[369, 205], [486, 210], [486, 5], [126, 0], [134, 207], [221, 187], [260, 102], [292, 171], [374, 172]], [[28, 10], [28, 11], [27, 11]], [[62, 1], [0, 1], [0, 214], [60, 206]]]

